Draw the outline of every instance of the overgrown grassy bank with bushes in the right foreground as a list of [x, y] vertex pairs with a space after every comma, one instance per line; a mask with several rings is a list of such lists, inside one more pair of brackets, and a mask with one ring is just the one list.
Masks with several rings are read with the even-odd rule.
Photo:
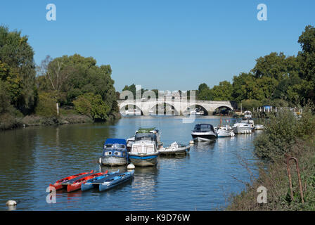
[[[231, 195], [226, 210], [315, 210], [315, 117], [311, 110], [303, 112], [301, 118], [290, 112], [271, 117], [264, 133], [255, 140], [255, 154], [263, 161], [259, 165], [259, 177], [240, 194]], [[288, 157], [298, 160], [304, 203], [294, 161], [290, 161], [291, 198]], [[257, 203], [259, 186], [266, 188], [267, 203]]]

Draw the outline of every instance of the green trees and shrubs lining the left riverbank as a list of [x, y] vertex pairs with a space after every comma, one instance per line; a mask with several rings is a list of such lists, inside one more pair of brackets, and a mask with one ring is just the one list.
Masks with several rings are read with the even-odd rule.
[[0, 129], [120, 117], [111, 72], [78, 54], [35, 65], [28, 37], [0, 26]]

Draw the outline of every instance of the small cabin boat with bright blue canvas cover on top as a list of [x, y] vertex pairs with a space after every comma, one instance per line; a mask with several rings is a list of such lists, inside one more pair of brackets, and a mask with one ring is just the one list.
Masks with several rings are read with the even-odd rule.
[[101, 165], [119, 166], [128, 163], [127, 141], [125, 139], [106, 139]]

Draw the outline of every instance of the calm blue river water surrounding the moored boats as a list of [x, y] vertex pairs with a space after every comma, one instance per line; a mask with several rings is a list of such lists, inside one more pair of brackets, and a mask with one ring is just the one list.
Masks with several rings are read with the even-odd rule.
[[239, 180], [250, 180], [242, 160], [257, 174], [252, 141], [258, 132], [195, 144], [185, 156], [160, 157], [157, 167], [136, 167], [133, 180], [109, 191], [57, 191], [56, 204], [46, 203], [50, 183], [91, 169], [113, 169], [98, 165], [105, 139], [127, 139], [139, 127], [156, 127], [164, 146], [189, 143], [200, 122], [216, 126], [219, 117], [198, 117], [193, 123], [183, 123], [182, 117], [124, 117], [2, 131], [0, 210], [8, 210], [7, 200], [18, 202], [16, 210], [221, 210], [232, 192], [245, 187]]

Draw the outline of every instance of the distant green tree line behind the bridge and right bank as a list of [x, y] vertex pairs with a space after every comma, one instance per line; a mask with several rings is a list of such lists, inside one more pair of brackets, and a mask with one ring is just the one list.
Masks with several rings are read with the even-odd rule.
[[[200, 84], [196, 98], [207, 101], [236, 101], [243, 108], [251, 110], [262, 105], [279, 107], [302, 107], [311, 101], [315, 103], [315, 28], [305, 27], [298, 39], [302, 51], [297, 56], [271, 52], [257, 58], [250, 72], [241, 72], [233, 82], [219, 82], [210, 88]], [[122, 91], [131, 91], [136, 86], [124, 86]], [[143, 91], [146, 91], [142, 89]], [[153, 89], [158, 98], [158, 90]]]

